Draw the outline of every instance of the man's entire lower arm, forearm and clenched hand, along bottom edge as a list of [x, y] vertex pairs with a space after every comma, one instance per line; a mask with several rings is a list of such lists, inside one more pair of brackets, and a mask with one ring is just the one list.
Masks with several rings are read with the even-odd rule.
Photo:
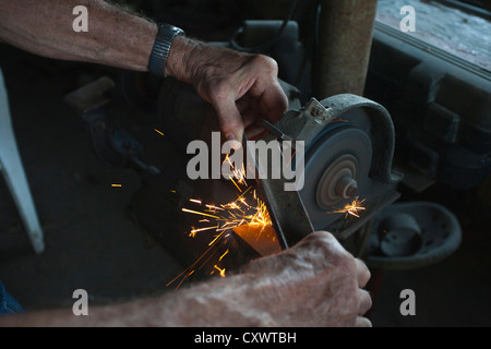
[[370, 326], [370, 273], [326, 232], [244, 273], [160, 298], [0, 317], [0, 326]]

